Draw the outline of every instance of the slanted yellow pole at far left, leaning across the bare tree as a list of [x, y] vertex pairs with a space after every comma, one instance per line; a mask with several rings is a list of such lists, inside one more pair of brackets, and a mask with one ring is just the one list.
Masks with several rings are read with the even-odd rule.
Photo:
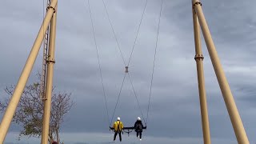
[[[57, 3], [57, 0], [52, 0], [50, 6], [55, 7]], [[51, 8], [46, 13], [46, 17], [44, 18], [44, 21], [42, 22], [42, 26], [38, 32], [38, 36], [34, 41], [34, 45], [30, 51], [30, 55], [26, 60], [26, 65], [24, 66], [22, 70], [22, 74], [18, 79], [18, 83], [15, 87], [14, 94], [10, 98], [10, 103], [6, 108], [6, 112], [2, 117], [2, 122], [0, 125], [0, 143], [4, 142], [4, 139], [6, 138], [7, 131], [10, 127], [10, 122], [12, 118], [14, 117], [15, 110], [18, 106], [18, 102], [22, 96], [22, 92], [26, 86], [27, 79], [30, 76], [30, 72], [34, 66], [34, 61], [38, 56], [38, 51], [40, 49], [40, 46], [42, 45], [42, 40], [44, 38], [44, 34], [46, 33], [47, 26], [49, 25], [50, 19], [52, 15], [54, 14], [54, 9]]]

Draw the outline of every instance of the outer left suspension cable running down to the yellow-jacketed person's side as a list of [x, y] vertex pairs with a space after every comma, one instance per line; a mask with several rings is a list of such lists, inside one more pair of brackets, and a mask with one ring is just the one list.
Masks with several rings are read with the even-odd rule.
[[107, 103], [107, 102], [106, 102], [106, 91], [105, 91], [105, 86], [104, 86], [103, 78], [102, 78], [102, 66], [101, 66], [101, 64], [100, 64], [99, 56], [98, 56], [98, 45], [97, 45], [96, 36], [95, 36], [95, 31], [94, 31], [94, 22], [93, 22], [91, 10], [90, 10], [90, 0], [88, 0], [87, 2], [88, 2], [89, 12], [90, 12], [90, 22], [91, 22], [91, 26], [92, 26], [93, 34], [94, 34], [94, 44], [95, 44], [95, 49], [96, 49], [97, 58], [98, 58], [98, 69], [99, 69], [100, 75], [101, 75], [102, 91], [103, 91], [104, 98], [105, 98], [105, 106], [106, 106], [107, 120], [108, 120], [108, 122], [109, 122], [109, 125], [111, 125], [111, 122], [110, 122], [110, 119], [109, 119], [109, 118], [110, 118], [110, 116], [109, 116], [109, 110], [108, 110], [107, 104], [106, 104], [106, 103]]

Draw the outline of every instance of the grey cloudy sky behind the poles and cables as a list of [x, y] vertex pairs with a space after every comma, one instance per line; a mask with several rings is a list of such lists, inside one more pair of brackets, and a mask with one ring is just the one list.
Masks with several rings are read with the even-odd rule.
[[[146, 0], [105, 2], [123, 57], [128, 62]], [[160, 5], [160, 0], [148, 0], [129, 67], [145, 117]], [[124, 76], [122, 57], [102, 0], [90, 0], [90, 6], [110, 115], [107, 118], [87, 0], [59, 1], [54, 86], [57, 91], [72, 93], [76, 102], [62, 125], [62, 139], [66, 143], [106, 143], [112, 140], [108, 121], [113, 115]], [[202, 10], [250, 143], [256, 142], [254, 6], [254, 0], [202, 1]], [[43, 14], [42, 1], [2, 1], [1, 99], [6, 97], [3, 89], [18, 81]], [[212, 143], [237, 143], [203, 38], [202, 51]], [[38, 54], [29, 83], [34, 82], [35, 74], [41, 69], [42, 51]], [[190, 0], [163, 0], [150, 102], [148, 130], [143, 133], [142, 142], [203, 143]], [[129, 78], [124, 81], [114, 120], [118, 116], [125, 126], [132, 126], [138, 116], [142, 117]], [[14, 124], [10, 127], [6, 142], [16, 142], [17, 127]], [[130, 137], [124, 135], [123, 139], [124, 143], [138, 142], [134, 134]], [[23, 141], [39, 142], [26, 138]]]

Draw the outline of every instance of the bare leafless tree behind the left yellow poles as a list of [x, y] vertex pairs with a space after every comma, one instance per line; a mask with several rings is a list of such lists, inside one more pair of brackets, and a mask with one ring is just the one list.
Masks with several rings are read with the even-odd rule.
[[[40, 76], [38, 76], [40, 79]], [[5, 111], [10, 97], [14, 93], [14, 86], [6, 87], [6, 94], [9, 95], [4, 101], [0, 101], [0, 111]], [[54, 91], [54, 90], [53, 90]], [[71, 94], [66, 92], [53, 93], [50, 114], [50, 131], [48, 141], [54, 139], [60, 143], [59, 131], [64, 122], [65, 115], [69, 112], [74, 102], [70, 98]], [[40, 99], [40, 83], [34, 82], [25, 87], [22, 98], [18, 103], [18, 108], [14, 114], [13, 122], [22, 126], [19, 138], [22, 136], [40, 137], [42, 135], [42, 114], [43, 102]]]

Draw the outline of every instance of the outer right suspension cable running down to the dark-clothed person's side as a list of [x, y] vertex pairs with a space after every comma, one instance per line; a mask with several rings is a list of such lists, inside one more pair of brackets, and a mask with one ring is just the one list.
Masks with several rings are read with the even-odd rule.
[[[155, 65], [155, 58], [156, 58], [157, 48], [158, 48], [158, 35], [159, 35], [159, 29], [160, 29], [161, 16], [162, 16], [162, 2], [161, 2], [161, 8], [160, 8], [159, 19], [158, 19], [158, 34], [157, 34], [157, 40], [156, 40], [156, 42], [155, 42], [155, 48], [154, 48], [154, 62], [153, 62], [153, 69], [152, 69], [151, 82], [150, 82], [150, 98], [151, 98], [152, 84], [153, 84], [153, 78], [154, 78], [154, 65]], [[147, 124], [147, 120], [148, 120], [148, 117], [149, 117], [150, 98], [149, 98], [149, 104], [148, 104], [148, 106], [147, 106], [146, 124]]]

